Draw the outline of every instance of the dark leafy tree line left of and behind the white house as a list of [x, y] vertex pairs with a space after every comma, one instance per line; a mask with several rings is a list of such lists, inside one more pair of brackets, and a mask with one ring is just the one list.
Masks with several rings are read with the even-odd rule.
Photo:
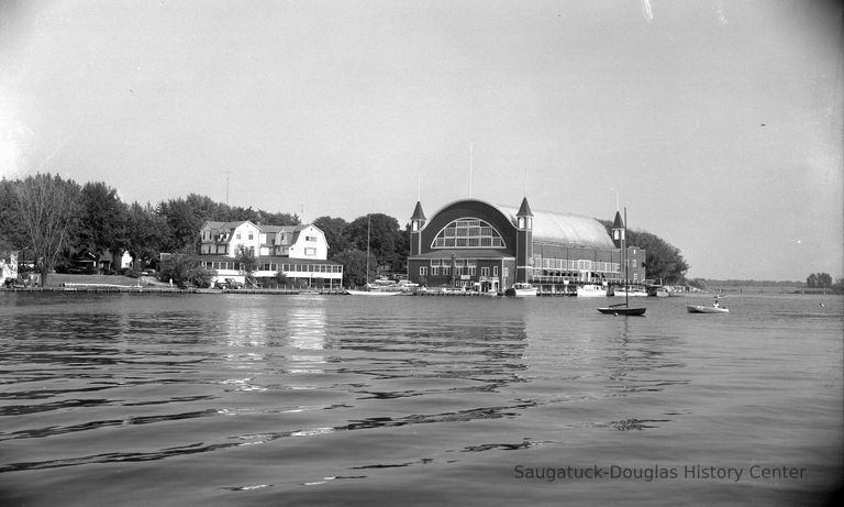
[[299, 224], [296, 214], [222, 205], [197, 194], [126, 203], [102, 181], [79, 185], [52, 174], [0, 180], [0, 250], [21, 251], [42, 283], [86, 252], [108, 252], [113, 265], [129, 252], [137, 269], [157, 263], [160, 252], [195, 255], [206, 220]]

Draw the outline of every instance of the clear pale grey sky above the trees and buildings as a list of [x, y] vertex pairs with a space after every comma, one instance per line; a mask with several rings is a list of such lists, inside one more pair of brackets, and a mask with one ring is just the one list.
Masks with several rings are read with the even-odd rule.
[[821, 0], [0, 0], [0, 176], [304, 221], [621, 206], [689, 277], [837, 278], [843, 26]]

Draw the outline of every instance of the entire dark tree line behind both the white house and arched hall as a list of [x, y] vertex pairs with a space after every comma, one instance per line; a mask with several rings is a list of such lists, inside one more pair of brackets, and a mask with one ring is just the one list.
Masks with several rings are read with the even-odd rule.
[[[0, 180], [0, 250], [22, 251], [43, 283], [49, 272], [85, 252], [108, 252], [112, 265], [129, 252], [138, 271], [156, 265], [162, 252], [178, 255], [186, 266], [197, 264], [199, 230], [208, 220], [301, 224], [295, 213], [229, 206], [197, 194], [156, 205], [126, 203], [118, 189], [103, 181], [80, 185], [52, 174]], [[611, 222], [600, 222], [609, 234]], [[406, 269], [410, 227], [400, 225], [393, 217], [373, 212], [346, 221], [324, 216], [313, 224], [325, 234], [329, 260], [344, 266], [345, 286], [363, 285], [367, 273], [371, 278]], [[647, 251], [647, 278], [665, 284], [685, 280], [689, 266], [678, 249], [649, 232], [630, 230], [628, 234], [629, 244]]]

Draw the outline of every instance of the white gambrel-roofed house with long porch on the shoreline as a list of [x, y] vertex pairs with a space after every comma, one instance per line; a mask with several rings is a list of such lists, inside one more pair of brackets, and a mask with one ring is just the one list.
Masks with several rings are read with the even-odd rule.
[[257, 257], [255, 277], [274, 277], [279, 271], [293, 282], [311, 287], [340, 287], [343, 265], [326, 261], [325, 234], [313, 224], [256, 225], [248, 220], [202, 224], [200, 260], [216, 271], [216, 279], [244, 282], [243, 266], [235, 261], [240, 247]]

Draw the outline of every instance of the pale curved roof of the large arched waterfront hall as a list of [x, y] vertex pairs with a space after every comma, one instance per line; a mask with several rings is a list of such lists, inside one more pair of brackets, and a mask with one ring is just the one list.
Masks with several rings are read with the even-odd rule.
[[[459, 199], [437, 210], [438, 214], [462, 201], [475, 201], [497, 209], [515, 227], [519, 208], [482, 201], [480, 199]], [[586, 246], [600, 250], [615, 250], [607, 229], [598, 220], [579, 214], [558, 213], [555, 211], [533, 211], [533, 241], [559, 245]]]

